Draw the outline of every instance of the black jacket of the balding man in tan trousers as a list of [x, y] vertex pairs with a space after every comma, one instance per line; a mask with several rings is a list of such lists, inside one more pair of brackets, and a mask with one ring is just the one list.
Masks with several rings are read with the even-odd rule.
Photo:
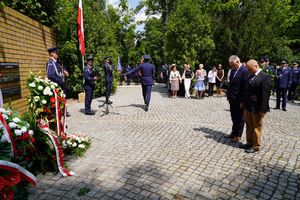
[[270, 111], [271, 85], [271, 77], [262, 70], [257, 75], [249, 75], [245, 85], [245, 109], [256, 113]]

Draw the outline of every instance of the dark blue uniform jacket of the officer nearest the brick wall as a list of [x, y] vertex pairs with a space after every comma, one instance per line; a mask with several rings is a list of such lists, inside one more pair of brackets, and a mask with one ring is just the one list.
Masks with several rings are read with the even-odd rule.
[[63, 87], [63, 71], [60, 64], [53, 59], [49, 59], [46, 65], [46, 69], [47, 78], [57, 83], [60, 87]]

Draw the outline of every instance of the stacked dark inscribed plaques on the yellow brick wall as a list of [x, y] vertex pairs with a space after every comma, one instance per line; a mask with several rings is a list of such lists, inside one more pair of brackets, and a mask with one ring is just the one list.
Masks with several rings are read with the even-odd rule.
[[21, 98], [19, 63], [0, 62], [0, 88], [4, 103]]

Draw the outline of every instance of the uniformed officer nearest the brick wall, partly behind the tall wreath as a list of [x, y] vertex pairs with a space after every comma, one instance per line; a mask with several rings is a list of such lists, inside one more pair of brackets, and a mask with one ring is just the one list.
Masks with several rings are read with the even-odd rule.
[[57, 83], [61, 88], [64, 88], [63, 84], [63, 71], [58, 60], [58, 48], [52, 47], [48, 49], [49, 60], [46, 65], [47, 78]]

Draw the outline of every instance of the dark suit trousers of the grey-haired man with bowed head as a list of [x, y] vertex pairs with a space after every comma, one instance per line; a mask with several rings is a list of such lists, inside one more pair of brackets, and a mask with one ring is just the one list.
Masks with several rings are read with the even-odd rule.
[[244, 109], [240, 108], [239, 101], [229, 100], [229, 105], [230, 105], [230, 114], [232, 120], [231, 135], [241, 137], [244, 130], [244, 117], [243, 117]]

